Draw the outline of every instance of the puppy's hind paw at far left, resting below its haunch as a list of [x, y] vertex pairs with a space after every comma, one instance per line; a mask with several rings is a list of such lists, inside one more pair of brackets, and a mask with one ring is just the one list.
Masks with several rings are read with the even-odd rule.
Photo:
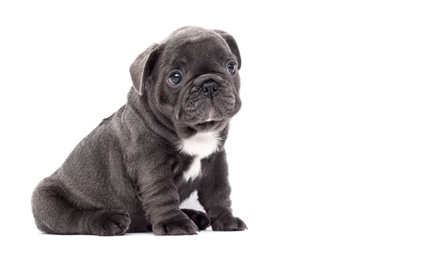
[[129, 214], [119, 210], [102, 210], [93, 217], [93, 234], [97, 236], [120, 236], [131, 224]]

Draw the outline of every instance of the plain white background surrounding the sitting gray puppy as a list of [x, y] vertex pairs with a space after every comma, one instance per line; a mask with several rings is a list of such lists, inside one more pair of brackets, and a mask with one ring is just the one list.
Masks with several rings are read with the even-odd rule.
[[[420, 1], [141, 2], [1, 2], [0, 250], [423, 255]], [[40, 234], [35, 185], [126, 102], [136, 56], [183, 25], [240, 46], [243, 106], [225, 147], [249, 230]]]

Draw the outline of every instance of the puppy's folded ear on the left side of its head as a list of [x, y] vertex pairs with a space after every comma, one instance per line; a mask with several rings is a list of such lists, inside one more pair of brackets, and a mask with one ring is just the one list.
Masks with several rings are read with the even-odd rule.
[[160, 44], [152, 44], [129, 67], [134, 89], [139, 95], [143, 95], [148, 83], [148, 76], [151, 74], [153, 66], [158, 59], [160, 53], [159, 46]]

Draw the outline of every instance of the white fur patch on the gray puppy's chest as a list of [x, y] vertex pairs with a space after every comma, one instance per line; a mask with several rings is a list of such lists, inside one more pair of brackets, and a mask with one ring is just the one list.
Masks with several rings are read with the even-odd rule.
[[189, 169], [184, 171], [185, 181], [189, 181], [190, 178], [195, 179], [201, 175], [201, 159], [216, 152], [219, 143], [218, 133], [214, 132], [198, 133], [191, 138], [182, 140], [179, 150], [194, 157]]

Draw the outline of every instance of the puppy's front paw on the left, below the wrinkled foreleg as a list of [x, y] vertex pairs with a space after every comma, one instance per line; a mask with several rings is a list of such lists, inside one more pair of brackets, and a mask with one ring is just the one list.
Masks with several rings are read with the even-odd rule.
[[195, 235], [196, 231], [199, 231], [196, 224], [186, 216], [153, 225], [153, 234], [156, 236]]

